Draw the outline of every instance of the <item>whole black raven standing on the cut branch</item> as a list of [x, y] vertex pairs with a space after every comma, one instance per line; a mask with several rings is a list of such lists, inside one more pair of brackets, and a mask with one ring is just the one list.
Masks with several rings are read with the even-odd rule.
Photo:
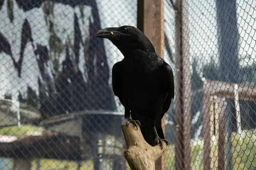
[[[105, 28], [96, 37], [107, 38], [122, 52], [124, 59], [113, 65], [113, 92], [125, 107], [128, 123], [137, 125], [148, 144], [160, 143], [164, 138], [161, 119], [174, 97], [172, 68], [158, 57], [154, 46], [138, 28], [121, 26]], [[130, 118], [133, 119], [131, 119]]]

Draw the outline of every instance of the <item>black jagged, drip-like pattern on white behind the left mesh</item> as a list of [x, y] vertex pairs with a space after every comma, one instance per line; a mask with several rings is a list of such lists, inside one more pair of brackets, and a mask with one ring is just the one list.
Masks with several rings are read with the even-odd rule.
[[[4, 0], [0, 0], [0, 9], [4, 4]], [[79, 25], [78, 16], [74, 13], [74, 38], [70, 42], [66, 42], [61, 47], [58, 43], [61, 42], [62, 37], [52, 36], [49, 38], [49, 46], [36, 44], [33, 40], [30, 23], [27, 19], [24, 20], [21, 33], [21, 44], [19, 59], [15, 60], [13, 57], [11, 42], [8, 42], [5, 35], [0, 30], [0, 52], [6, 53], [13, 61], [18, 77], [22, 78], [21, 70], [23, 68], [24, 50], [28, 42], [32, 43], [33, 52], [35, 54], [41, 78], [38, 78], [39, 95], [35, 95], [31, 87], [28, 87], [26, 98], [23, 94], [19, 95], [19, 100], [34, 105], [42, 113], [42, 119], [49, 118], [49, 116], [70, 113], [74, 111], [84, 110], [107, 110], [113, 111], [116, 106], [113, 102], [113, 92], [111, 86], [108, 84], [110, 78], [109, 68], [107, 64], [105, 48], [103, 40], [96, 39], [94, 34], [101, 29], [98, 9], [95, 0], [8, 0], [8, 16], [13, 20], [14, 11], [13, 3], [17, 3], [20, 9], [24, 12], [32, 10], [33, 8], [42, 8], [44, 5], [45, 15], [51, 13], [52, 7], [55, 3], [75, 8], [76, 6], [90, 6], [92, 9], [91, 20], [89, 28], [89, 36], [86, 40], [82, 40], [81, 26]], [[45, 8], [49, 6], [49, 8]], [[36, 20], [36, 18], [35, 18]], [[51, 22], [48, 23], [49, 33], [54, 32]], [[84, 28], [83, 28], [84, 29]], [[55, 49], [54, 49], [55, 48]], [[58, 49], [59, 48], [59, 49]], [[85, 59], [84, 71], [82, 73], [78, 68], [79, 55], [84, 51], [82, 57]], [[50, 51], [65, 51], [65, 59], [60, 65], [56, 63], [53, 57], [50, 57]], [[61, 66], [61, 70], [58, 67]], [[47, 68], [51, 68], [50, 74]], [[23, 68], [26, 69], [26, 68]], [[86, 81], [83, 75], [87, 75]], [[31, 101], [28, 98], [34, 97]], [[12, 98], [12, 97], [11, 97]], [[39, 104], [38, 104], [39, 103]]]

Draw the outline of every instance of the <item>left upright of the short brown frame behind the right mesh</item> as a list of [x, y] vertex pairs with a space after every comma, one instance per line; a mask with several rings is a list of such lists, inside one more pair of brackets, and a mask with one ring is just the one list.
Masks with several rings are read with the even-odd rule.
[[[216, 83], [216, 82], [215, 82]], [[212, 91], [212, 84], [207, 80], [203, 85], [203, 135], [204, 135], [204, 170], [223, 170], [225, 165], [225, 110], [224, 98], [219, 96], [219, 89]], [[213, 141], [212, 137], [215, 135]], [[216, 148], [213, 143], [217, 142]], [[216, 143], [215, 143], [216, 144]]]

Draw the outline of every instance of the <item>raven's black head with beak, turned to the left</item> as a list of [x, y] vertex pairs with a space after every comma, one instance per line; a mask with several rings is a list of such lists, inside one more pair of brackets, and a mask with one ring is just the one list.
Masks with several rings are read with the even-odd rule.
[[111, 40], [123, 54], [133, 50], [155, 52], [148, 37], [134, 26], [104, 28], [96, 33], [96, 37]]

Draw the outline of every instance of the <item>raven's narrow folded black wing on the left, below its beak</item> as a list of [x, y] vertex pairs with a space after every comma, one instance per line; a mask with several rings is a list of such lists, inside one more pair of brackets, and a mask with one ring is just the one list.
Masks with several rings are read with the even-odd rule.
[[[113, 65], [112, 68], [112, 88], [114, 95], [117, 96], [124, 105], [123, 102], [123, 75], [122, 75], [122, 69], [123, 69], [123, 62], [116, 62], [116, 64]], [[125, 105], [124, 105], [125, 106]]]

